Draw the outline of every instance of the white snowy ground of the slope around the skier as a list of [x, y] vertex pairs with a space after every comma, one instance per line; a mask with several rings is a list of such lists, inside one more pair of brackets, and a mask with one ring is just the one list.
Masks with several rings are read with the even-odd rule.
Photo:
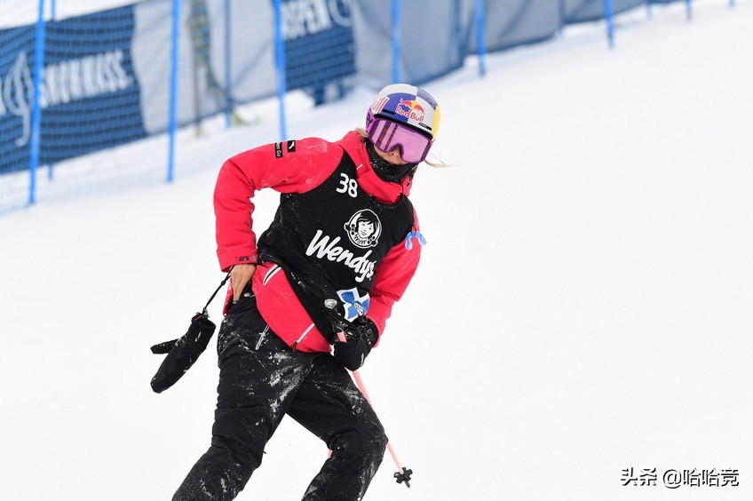
[[[367, 499], [753, 498], [753, 2], [726, 4], [690, 24], [655, 8], [614, 52], [592, 26], [426, 85], [455, 166], [417, 175], [429, 244], [362, 370], [415, 478], [385, 457]], [[302, 106], [290, 135], [337, 139], [370, 98]], [[156, 395], [148, 347], [222, 278], [219, 164], [274, 134], [186, 135], [171, 186], [0, 218], [3, 499], [170, 498], [209, 444], [217, 359]], [[291, 420], [266, 452], [239, 499], [299, 498], [327, 454]], [[628, 468], [657, 485], [622, 487]], [[739, 486], [667, 489], [670, 469]]]

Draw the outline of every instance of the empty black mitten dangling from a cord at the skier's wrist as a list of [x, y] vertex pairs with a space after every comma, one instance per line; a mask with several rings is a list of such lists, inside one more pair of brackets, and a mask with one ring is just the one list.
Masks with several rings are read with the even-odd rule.
[[186, 370], [191, 369], [199, 355], [207, 348], [216, 326], [203, 314], [191, 319], [191, 326], [182, 338], [152, 346], [153, 354], [167, 354], [152, 378], [152, 389], [162, 393], [173, 386]]

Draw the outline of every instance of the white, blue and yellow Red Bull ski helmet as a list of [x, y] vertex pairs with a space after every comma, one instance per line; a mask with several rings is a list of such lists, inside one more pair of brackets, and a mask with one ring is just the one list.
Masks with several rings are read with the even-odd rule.
[[392, 83], [376, 94], [369, 107], [367, 130], [375, 118], [404, 123], [433, 141], [440, 127], [440, 106], [429, 92], [416, 85]]

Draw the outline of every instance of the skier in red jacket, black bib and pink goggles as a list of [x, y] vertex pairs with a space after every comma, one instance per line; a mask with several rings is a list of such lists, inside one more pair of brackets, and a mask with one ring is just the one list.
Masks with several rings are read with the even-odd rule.
[[[387, 438], [345, 368], [361, 367], [416, 271], [424, 239], [408, 193], [439, 122], [427, 91], [397, 83], [376, 95], [365, 129], [334, 143], [256, 147], [223, 164], [214, 207], [231, 282], [218, 404], [210, 448], [174, 501], [236, 497], [286, 414], [332, 450], [303, 499], [364, 496]], [[250, 198], [264, 187], [282, 195], [257, 243]]]

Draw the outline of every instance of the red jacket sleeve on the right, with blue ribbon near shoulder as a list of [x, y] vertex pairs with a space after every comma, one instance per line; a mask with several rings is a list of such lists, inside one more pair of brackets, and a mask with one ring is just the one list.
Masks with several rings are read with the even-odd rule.
[[[413, 218], [413, 232], [417, 233], [418, 219], [415, 211]], [[392, 305], [400, 300], [408, 289], [408, 283], [416, 274], [416, 267], [421, 258], [421, 244], [417, 239], [411, 238], [411, 235], [414, 234], [406, 235], [406, 240], [392, 247], [376, 268], [374, 287], [369, 294], [369, 312], [366, 316], [376, 324], [380, 337], [387, 319], [392, 314]]]

